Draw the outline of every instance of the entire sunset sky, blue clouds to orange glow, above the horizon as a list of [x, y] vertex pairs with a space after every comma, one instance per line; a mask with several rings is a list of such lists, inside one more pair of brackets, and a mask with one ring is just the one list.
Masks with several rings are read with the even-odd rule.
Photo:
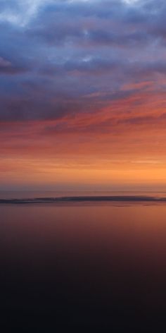
[[166, 186], [165, 0], [0, 0], [0, 189]]

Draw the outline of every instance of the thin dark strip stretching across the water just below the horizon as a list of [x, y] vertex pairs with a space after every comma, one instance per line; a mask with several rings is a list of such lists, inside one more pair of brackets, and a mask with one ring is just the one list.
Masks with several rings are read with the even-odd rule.
[[56, 198], [23, 198], [23, 199], [0, 199], [0, 204], [39, 204], [39, 203], [63, 203], [63, 202], [166, 202], [166, 198], [152, 197], [147, 195], [94, 195], [72, 196]]

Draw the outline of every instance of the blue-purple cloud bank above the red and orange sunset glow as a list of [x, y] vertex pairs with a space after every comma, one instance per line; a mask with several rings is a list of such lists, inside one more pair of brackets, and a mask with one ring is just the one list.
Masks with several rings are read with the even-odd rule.
[[0, 1], [0, 121], [93, 112], [142, 80], [156, 89], [165, 11], [163, 0]]

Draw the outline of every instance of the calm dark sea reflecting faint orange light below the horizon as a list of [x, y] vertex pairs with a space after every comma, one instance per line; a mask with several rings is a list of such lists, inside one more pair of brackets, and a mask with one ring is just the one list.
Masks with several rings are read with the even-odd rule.
[[156, 325], [164, 332], [166, 205], [156, 199], [165, 198], [160, 194], [1, 202], [1, 325], [22, 332], [147, 332]]

